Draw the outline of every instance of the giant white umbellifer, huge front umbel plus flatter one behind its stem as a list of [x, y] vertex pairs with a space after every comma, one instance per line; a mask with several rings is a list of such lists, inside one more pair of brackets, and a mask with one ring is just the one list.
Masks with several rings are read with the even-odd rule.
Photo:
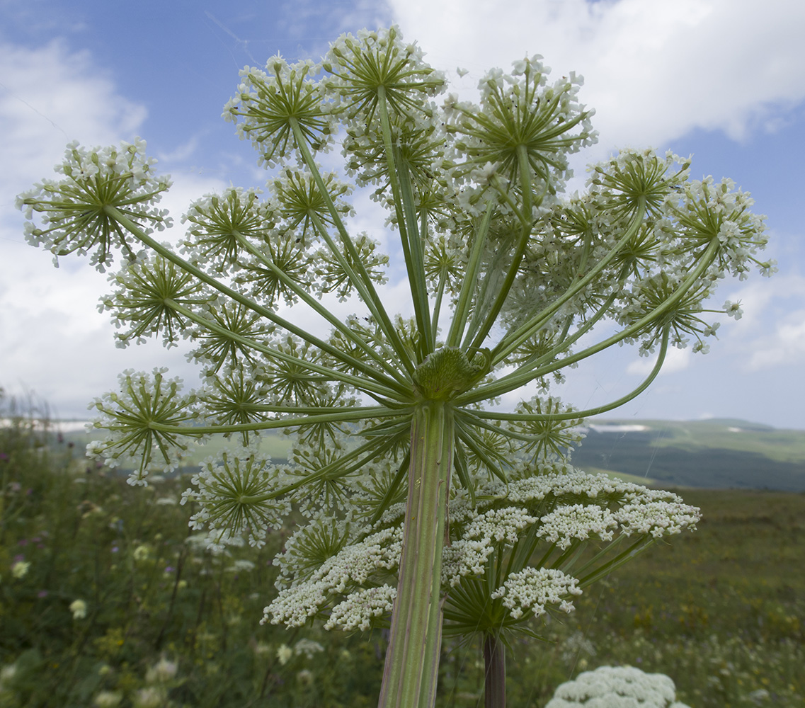
[[[273, 170], [268, 195], [194, 202], [179, 249], [154, 237], [169, 182], [142, 142], [69, 146], [63, 179], [19, 197], [28, 240], [56, 257], [91, 253], [103, 269], [122, 252], [101, 306], [120, 344], [185, 338], [202, 368], [192, 392], [162, 369], [123, 373], [93, 404], [107, 433], [89, 452], [134, 461], [132, 484], [146, 484], [194, 439], [228, 435], [186, 492], [193, 523], [211, 543], [261, 545], [295, 504], [308, 523], [278, 559], [264, 619], [390, 624], [381, 706], [433, 705], [443, 631], [481, 634], [487, 706], [501, 706], [509, 632], [694, 527], [679, 497], [586, 475], [568, 455], [580, 421], [638, 396], [669, 346], [706, 350], [720, 278], [772, 270], [755, 257], [766, 238], [749, 196], [691, 181], [687, 159], [623, 150], [584, 195], [561, 196], [568, 154], [596, 134], [580, 78], [547, 72], [520, 60], [481, 80], [479, 105], [437, 105], [444, 76], [395, 27], [343, 36], [320, 64], [246, 68], [224, 116]], [[388, 257], [350, 233], [352, 185], [316, 162], [336, 136], [399, 237], [411, 319], [378, 294]], [[356, 314], [336, 316], [333, 296]], [[596, 339], [604, 322], [614, 333]], [[547, 394], [624, 342], [658, 354], [632, 393], [583, 411]], [[526, 387], [515, 410], [485, 405]], [[260, 451], [275, 429], [295, 433], [286, 465]]]

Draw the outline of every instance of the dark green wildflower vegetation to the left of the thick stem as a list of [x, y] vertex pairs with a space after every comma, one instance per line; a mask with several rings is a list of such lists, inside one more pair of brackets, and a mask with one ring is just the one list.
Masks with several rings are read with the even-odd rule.
[[173, 708], [375, 702], [381, 636], [258, 625], [288, 529], [212, 553], [188, 535], [186, 481], [143, 492], [59, 439], [30, 418], [0, 428], [0, 706], [85, 708], [105, 692], [128, 708], [144, 691]]

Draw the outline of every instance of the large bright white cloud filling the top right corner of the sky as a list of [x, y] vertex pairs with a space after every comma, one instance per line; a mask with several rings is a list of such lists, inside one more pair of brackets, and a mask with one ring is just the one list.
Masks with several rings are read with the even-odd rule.
[[390, 0], [436, 68], [480, 78], [524, 54], [554, 76], [585, 77], [600, 150], [667, 141], [700, 127], [744, 138], [805, 98], [805, 4], [754, 0], [534, 2]]

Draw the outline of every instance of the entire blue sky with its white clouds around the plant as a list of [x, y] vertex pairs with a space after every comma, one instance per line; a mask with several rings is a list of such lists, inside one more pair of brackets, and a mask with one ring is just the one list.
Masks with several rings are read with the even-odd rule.
[[[318, 59], [343, 31], [399, 23], [427, 60], [471, 95], [483, 72], [540, 53], [556, 75], [583, 74], [597, 146], [694, 154], [698, 178], [732, 177], [768, 215], [773, 278], [725, 282], [741, 298], [706, 356], [675, 352], [622, 418], [745, 418], [805, 429], [805, 6], [754, 0], [476, 0], [376, 2], [57, 2], [0, 0], [0, 385], [35, 391], [64, 417], [85, 415], [124, 368], [166, 364], [189, 385], [181, 351], [118, 350], [96, 303], [105, 278], [81, 259], [52, 268], [25, 245], [14, 196], [45, 176], [64, 144], [145, 138], [187, 204], [229, 183], [261, 186], [254, 153], [220, 115], [246, 64], [279, 51]], [[456, 67], [469, 69], [459, 78]], [[580, 188], [578, 179], [574, 188]], [[357, 196], [366, 224], [379, 215]], [[361, 224], [361, 228], [367, 228]], [[379, 226], [374, 235], [380, 237]], [[394, 285], [394, 284], [392, 284]], [[620, 348], [569, 373], [560, 392], [580, 407], [634, 388], [649, 363]], [[610, 414], [614, 416], [615, 414]]]

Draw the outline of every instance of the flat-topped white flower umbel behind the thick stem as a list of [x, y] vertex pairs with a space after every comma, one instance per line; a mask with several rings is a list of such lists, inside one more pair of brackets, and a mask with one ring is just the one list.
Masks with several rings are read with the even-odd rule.
[[[361, 492], [355, 500], [360, 497]], [[366, 629], [387, 621], [403, 512], [402, 505], [390, 508], [369, 529], [357, 517], [349, 524], [319, 518], [299, 529], [277, 560], [279, 596], [266, 607], [263, 621], [299, 626], [324, 616], [328, 629]], [[637, 552], [658, 537], [695, 529], [700, 513], [670, 492], [543, 463], [541, 474], [482, 485], [475, 504], [456, 492], [449, 518], [451, 543], [444, 547], [441, 570], [451, 623], [446, 632], [452, 625], [480, 631], [488, 628], [487, 620], [508, 628], [542, 615], [549, 605], [572, 611], [569, 598], [609, 562], [601, 554], [599, 566], [582, 566], [584, 573], [573, 577], [573, 558], [582, 544], [612, 549], [617, 559], [616, 533], [634, 537], [629, 552]], [[539, 557], [542, 566], [528, 565]], [[473, 592], [488, 597], [480, 609], [469, 602]], [[492, 616], [477, 615], [490, 607]]]

